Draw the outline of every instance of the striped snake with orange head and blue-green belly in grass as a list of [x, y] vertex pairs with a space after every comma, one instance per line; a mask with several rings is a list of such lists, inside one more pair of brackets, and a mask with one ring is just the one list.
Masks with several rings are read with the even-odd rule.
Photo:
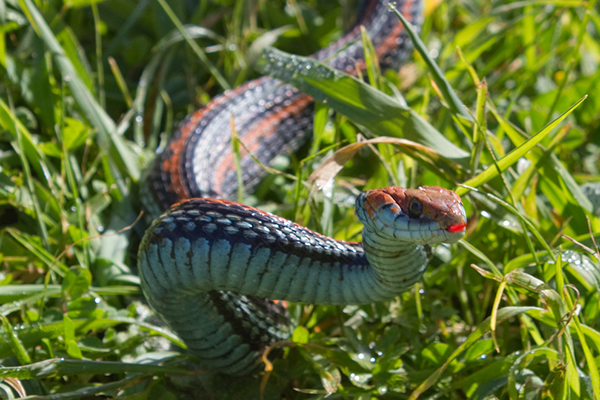
[[[419, 0], [397, 2], [419, 25]], [[384, 67], [398, 68], [411, 44], [387, 0], [367, 0], [354, 29], [313, 56], [354, 73], [364, 68], [360, 26]], [[244, 375], [264, 350], [289, 338], [286, 302], [366, 304], [391, 299], [423, 275], [432, 246], [463, 237], [467, 217], [454, 192], [391, 186], [362, 192], [362, 241], [326, 237], [232, 201], [237, 176], [232, 122], [260, 163], [310, 138], [313, 99], [270, 77], [224, 92], [187, 116], [146, 170], [145, 210], [154, 217], [138, 251], [150, 307], [211, 371]], [[246, 193], [264, 177], [242, 154]]]

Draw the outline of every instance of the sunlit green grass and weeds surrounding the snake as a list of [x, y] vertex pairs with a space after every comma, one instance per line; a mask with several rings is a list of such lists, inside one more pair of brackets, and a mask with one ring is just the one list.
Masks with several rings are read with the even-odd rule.
[[[398, 74], [369, 64], [373, 86], [290, 56], [348, 7], [283, 9], [0, 2], [0, 398], [599, 398], [600, 220], [579, 186], [600, 180], [595, 1], [429, 1], [423, 43]], [[272, 371], [224, 379], [140, 297], [138, 182], [178, 121], [257, 69], [326, 106], [245, 202], [356, 239], [359, 190], [442, 185], [470, 223], [393, 301], [292, 305]], [[344, 147], [359, 134], [376, 140]], [[304, 184], [332, 176], [326, 196]]]

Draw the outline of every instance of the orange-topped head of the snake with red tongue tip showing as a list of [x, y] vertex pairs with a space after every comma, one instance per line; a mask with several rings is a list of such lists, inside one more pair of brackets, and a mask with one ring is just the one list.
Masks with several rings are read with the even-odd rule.
[[435, 186], [368, 190], [356, 200], [356, 215], [370, 234], [390, 244], [454, 243], [464, 236], [467, 226], [460, 197]]

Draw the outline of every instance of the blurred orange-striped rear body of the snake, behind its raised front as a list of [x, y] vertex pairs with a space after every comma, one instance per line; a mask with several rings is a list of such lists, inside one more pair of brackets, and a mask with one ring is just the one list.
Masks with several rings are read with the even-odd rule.
[[[398, 67], [410, 40], [398, 18], [388, 12], [388, 0], [366, 1], [362, 24], [382, 66]], [[421, 18], [419, 0], [396, 6], [413, 23]], [[337, 69], [353, 73], [364, 67], [360, 27], [315, 54]], [[313, 100], [291, 85], [262, 77], [246, 83], [188, 115], [163, 151], [147, 169], [142, 188], [145, 209], [153, 216], [189, 198], [233, 199], [237, 176], [231, 152], [231, 127], [260, 162], [269, 165], [278, 154], [297, 150], [310, 137]], [[245, 193], [264, 177], [250, 155], [242, 154]]]

